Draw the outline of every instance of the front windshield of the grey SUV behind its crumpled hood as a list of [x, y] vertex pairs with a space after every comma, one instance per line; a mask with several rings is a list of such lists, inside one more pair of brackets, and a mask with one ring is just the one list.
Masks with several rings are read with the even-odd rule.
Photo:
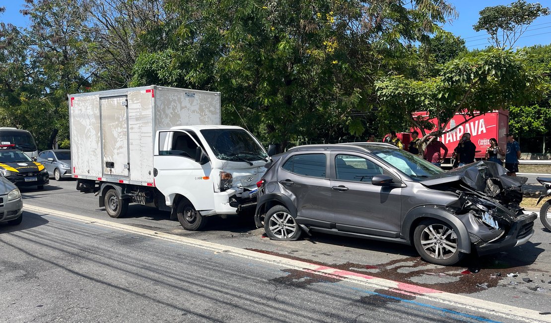
[[421, 181], [426, 177], [444, 172], [441, 168], [402, 149], [372, 149], [371, 152], [402, 173], [412, 177], [413, 180]]

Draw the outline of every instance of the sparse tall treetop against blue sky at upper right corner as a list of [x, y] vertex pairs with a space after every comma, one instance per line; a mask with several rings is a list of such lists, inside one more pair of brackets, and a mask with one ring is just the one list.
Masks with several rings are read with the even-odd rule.
[[549, 8], [517, 0], [509, 6], [486, 7], [479, 14], [474, 30], [486, 31], [495, 47], [511, 48], [536, 18], [549, 14]]

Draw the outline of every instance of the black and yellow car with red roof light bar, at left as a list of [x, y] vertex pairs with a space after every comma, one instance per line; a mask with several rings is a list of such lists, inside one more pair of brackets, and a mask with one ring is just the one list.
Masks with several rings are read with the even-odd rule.
[[[11, 146], [11, 145], [7, 145]], [[34, 186], [39, 190], [50, 183], [44, 166], [21, 150], [0, 145], [0, 174], [16, 186]]]

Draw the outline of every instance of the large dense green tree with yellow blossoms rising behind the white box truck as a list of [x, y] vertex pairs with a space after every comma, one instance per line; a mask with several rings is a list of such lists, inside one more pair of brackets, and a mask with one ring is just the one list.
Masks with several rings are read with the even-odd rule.
[[455, 14], [436, 0], [172, 0], [168, 8], [180, 25], [151, 37], [165, 47], [139, 56], [132, 84], [222, 91], [225, 123], [282, 144], [362, 134], [374, 77], [409, 71], [415, 42]]

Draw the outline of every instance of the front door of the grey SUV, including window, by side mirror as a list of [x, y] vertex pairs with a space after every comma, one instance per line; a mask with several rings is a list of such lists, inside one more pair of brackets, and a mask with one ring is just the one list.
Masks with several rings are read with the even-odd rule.
[[402, 222], [401, 187], [371, 184], [375, 175], [389, 175], [374, 159], [354, 152], [332, 152], [331, 201], [339, 231], [398, 238]]

